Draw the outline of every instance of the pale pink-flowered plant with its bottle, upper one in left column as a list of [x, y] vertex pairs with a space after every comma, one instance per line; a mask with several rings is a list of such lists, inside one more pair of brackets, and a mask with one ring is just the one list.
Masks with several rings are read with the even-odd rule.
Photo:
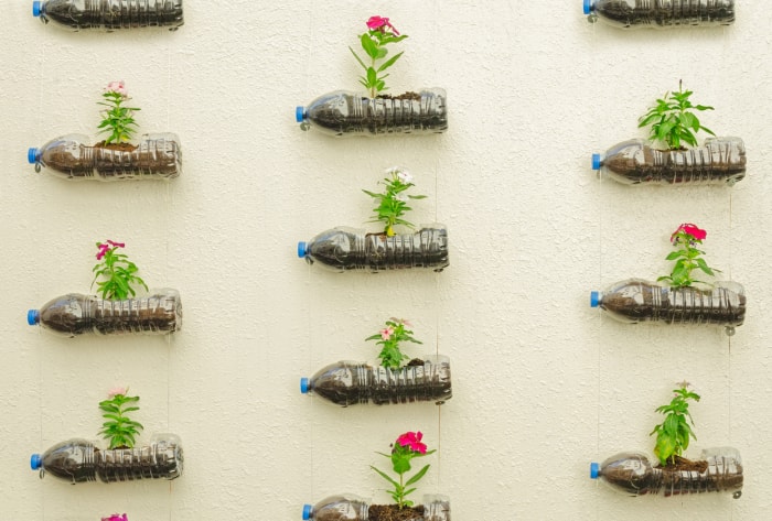
[[182, 172], [180, 140], [173, 133], [143, 134], [131, 142], [137, 107], [126, 106], [129, 95], [124, 82], [110, 82], [97, 105], [103, 110], [98, 129], [107, 137], [94, 145], [87, 135], [69, 134], [30, 149], [28, 160], [61, 178], [72, 181], [171, 180]]

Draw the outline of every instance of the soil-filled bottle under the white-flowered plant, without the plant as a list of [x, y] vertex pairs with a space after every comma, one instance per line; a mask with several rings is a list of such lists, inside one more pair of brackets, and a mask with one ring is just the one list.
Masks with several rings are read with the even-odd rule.
[[448, 229], [422, 225], [415, 234], [367, 234], [352, 228], [323, 231], [309, 242], [298, 242], [298, 257], [309, 264], [319, 262], [333, 271], [378, 272], [406, 268], [442, 271], [449, 265]]

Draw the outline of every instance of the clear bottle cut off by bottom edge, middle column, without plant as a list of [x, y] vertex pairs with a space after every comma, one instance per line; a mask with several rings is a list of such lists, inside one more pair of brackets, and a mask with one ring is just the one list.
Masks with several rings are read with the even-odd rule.
[[[303, 519], [315, 521], [384, 521], [396, 518], [379, 515], [389, 512], [394, 504], [371, 504], [369, 500], [351, 493], [331, 496], [317, 504], [303, 506]], [[422, 511], [422, 513], [421, 513]], [[400, 521], [450, 521], [450, 499], [446, 496], [423, 496], [423, 504], [417, 508], [416, 517], [399, 518]]]

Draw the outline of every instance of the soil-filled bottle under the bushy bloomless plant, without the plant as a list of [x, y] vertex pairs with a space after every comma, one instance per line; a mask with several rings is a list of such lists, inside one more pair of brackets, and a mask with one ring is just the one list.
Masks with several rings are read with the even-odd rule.
[[740, 138], [708, 138], [703, 146], [658, 150], [634, 139], [592, 155], [592, 170], [620, 183], [733, 185], [746, 176], [746, 145]]

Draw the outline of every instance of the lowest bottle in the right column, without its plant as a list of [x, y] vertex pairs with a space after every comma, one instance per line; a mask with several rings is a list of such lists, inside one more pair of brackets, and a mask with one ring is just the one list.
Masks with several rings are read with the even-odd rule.
[[742, 495], [742, 462], [736, 448], [703, 451], [700, 460], [694, 463], [698, 468], [689, 470], [653, 467], [641, 453], [621, 453], [601, 465], [591, 464], [590, 477], [629, 496], [731, 492], [737, 499]]

